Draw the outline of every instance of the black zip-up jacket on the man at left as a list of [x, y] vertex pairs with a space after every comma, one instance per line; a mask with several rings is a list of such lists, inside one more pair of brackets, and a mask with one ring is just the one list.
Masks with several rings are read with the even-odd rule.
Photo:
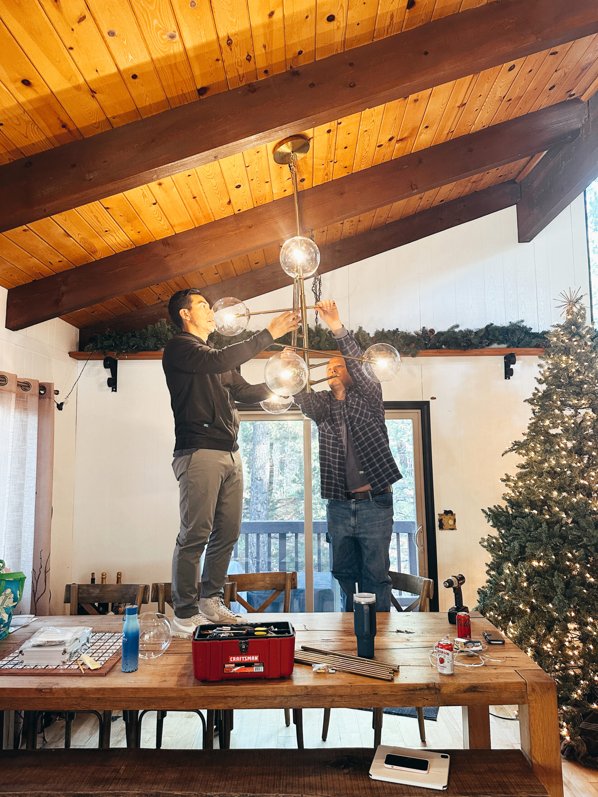
[[239, 417], [234, 402], [255, 404], [272, 395], [266, 384], [250, 385], [235, 371], [265, 348], [267, 329], [222, 349], [214, 349], [191, 332], [182, 332], [164, 347], [162, 367], [175, 415], [175, 451], [238, 450]]

